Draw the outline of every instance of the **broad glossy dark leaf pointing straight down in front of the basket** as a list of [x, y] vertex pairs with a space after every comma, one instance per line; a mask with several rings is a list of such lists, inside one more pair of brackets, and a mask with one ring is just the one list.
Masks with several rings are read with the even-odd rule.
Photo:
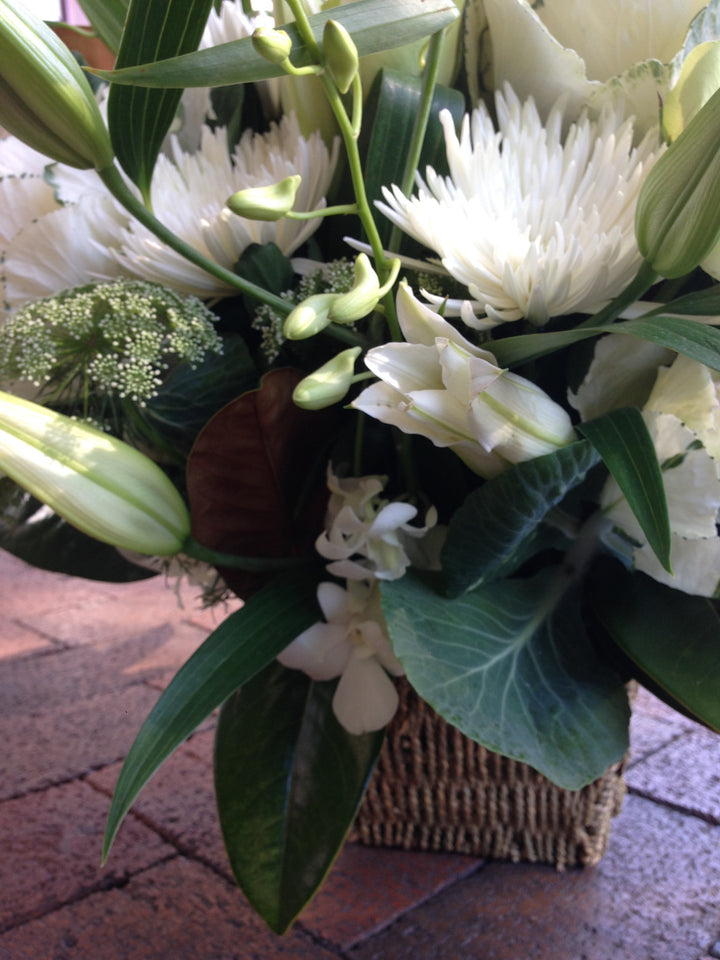
[[215, 792], [235, 879], [285, 933], [340, 852], [383, 742], [352, 736], [334, 683], [273, 664], [228, 700], [215, 739]]

